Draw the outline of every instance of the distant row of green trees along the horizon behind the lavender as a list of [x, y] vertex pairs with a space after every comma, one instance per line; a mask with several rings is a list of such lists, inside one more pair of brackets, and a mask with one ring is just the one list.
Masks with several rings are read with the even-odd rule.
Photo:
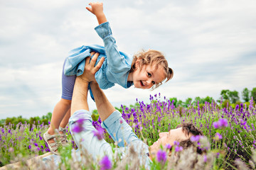
[[[241, 91], [241, 98], [242, 101], [240, 101], [240, 95], [238, 91], [230, 91], [228, 89], [223, 89], [220, 91], [220, 98], [217, 100], [218, 103], [221, 103], [223, 107], [232, 106], [233, 108], [240, 104], [240, 103], [246, 103], [247, 106], [249, 106], [250, 98], [253, 98], [254, 103], [256, 103], [256, 87], [253, 88], [251, 91], [247, 88], [243, 89]], [[199, 106], [202, 108], [203, 105], [208, 102], [212, 103], [215, 102], [215, 100], [212, 97], [206, 96], [205, 98], [201, 98], [197, 96], [196, 98], [187, 98], [185, 101], [178, 100], [176, 97], [169, 98], [171, 102], [174, 103], [174, 106], [181, 107], [181, 108], [187, 108], [188, 106]], [[137, 108], [139, 106], [139, 103], [135, 103], [134, 105], [130, 105], [129, 108]], [[127, 106], [122, 106], [120, 108], [115, 107], [118, 111], [122, 112], [123, 108], [127, 108]], [[18, 123], [28, 123], [31, 125], [48, 125], [51, 119], [52, 113], [47, 113], [47, 115], [43, 115], [41, 118], [36, 116], [29, 119], [22, 118], [22, 116], [12, 117], [12, 118], [6, 118], [0, 120], [0, 127], [4, 125], [9, 125], [9, 123], [14, 124], [14, 128]], [[99, 118], [99, 115], [97, 114], [97, 110], [92, 111], [92, 119], [97, 120]]]

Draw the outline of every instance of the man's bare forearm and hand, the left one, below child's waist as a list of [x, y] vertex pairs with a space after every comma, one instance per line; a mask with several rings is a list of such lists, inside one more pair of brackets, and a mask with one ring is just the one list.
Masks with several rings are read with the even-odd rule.
[[75, 86], [73, 90], [73, 97], [71, 103], [71, 115], [75, 113], [75, 111], [79, 110], [87, 110], [89, 111], [88, 103], [87, 103], [87, 91], [88, 84], [90, 81], [95, 80], [95, 73], [100, 69], [102, 63], [104, 62], [104, 57], [100, 59], [100, 62], [96, 66], [95, 62], [99, 53], [96, 53], [92, 60], [90, 61], [90, 57], [87, 57], [85, 60], [85, 70], [84, 73], [75, 79]]

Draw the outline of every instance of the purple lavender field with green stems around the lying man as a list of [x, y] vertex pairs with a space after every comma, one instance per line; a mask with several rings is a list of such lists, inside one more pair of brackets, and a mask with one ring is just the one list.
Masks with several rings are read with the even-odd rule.
[[[151, 103], [137, 101], [131, 108], [122, 106], [122, 117], [134, 129], [138, 137], [148, 145], [153, 144], [159, 132], [166, 132], [177, 128], [183, 122], [191, 122], [203, 131], [206, 137], [193, 137], [191, 140], [204, 151], [198, 155], [191, 149], [172, 147], [174, 159], [166, 159], [168, 148], [164, 146], [157, 154], [152, 169], [256, 169], [256, 106], [250, 100], [250, 104], [240, 103], [237, 106], [224, 106], [223, 103], [205, 103], [203, 106], [188, 105], [188, 107], [176, 107], [174, 101], [165, 98], [160, 99], [160, 94], [150, 96]], [[93, 122], [95, 128], [100, 128], [101, 120]], [[48, 146], [43, 141], [43, 133], [48, 125], [33, 125], [27, 123], [18, 125], [4, 125], [0, 127], [0, 164], [4, 166], [13, 162], [25, 162], [26, 159], [49, 152]], [[50, 166], [50, 169], [143, 169], [137, 167], [137, 157], [131, 153], [130, 159], [119, 159], [114, 162], [90, 159], [83, 153], [84, 159], [80, 162], [73, 159], [70, 151], [77, 149], [71, 135], [68, 133], [70, 147], [60, 151], [62, 164]], [[105, 133], [105, 140], [112, 142]], [[113, 147], [115, 145], [113, 144]], [[23, 168], [28, 168], [24, 163]], [[46, 166], [38, 163], [37, 169], [46, 169]], [[191, 167], [191, 168], [190, 168]]]

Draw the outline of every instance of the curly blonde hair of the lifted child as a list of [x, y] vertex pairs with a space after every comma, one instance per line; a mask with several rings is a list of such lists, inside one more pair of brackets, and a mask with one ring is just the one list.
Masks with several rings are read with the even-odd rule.
[[[139, 62], [139, 69], [142, 69], [142, 66], [144, 65], [151, 65], [155, 64], [157, 69], [159, 66], [163, 67], [166, 73], [166, 81], [169, 81], [172, 77], [174, 77], [174, 71], [170, 67], [168, 67], [168, 62], [164, 55], [157, 51], [157, 50], [142, 50], [141, 52], [137, 52], [137, 54], [134, 55], [134, 59], [132, 60], [132, 67], [130, 69], [130, 72], [134, 72], [136, 69], [138, 69], [135, 64], [136, 62]], [[152, 90], [156, 89], [162, 84], [162, 82], [158, 84], [154, 84], [154, 86], [151, 87]]]

